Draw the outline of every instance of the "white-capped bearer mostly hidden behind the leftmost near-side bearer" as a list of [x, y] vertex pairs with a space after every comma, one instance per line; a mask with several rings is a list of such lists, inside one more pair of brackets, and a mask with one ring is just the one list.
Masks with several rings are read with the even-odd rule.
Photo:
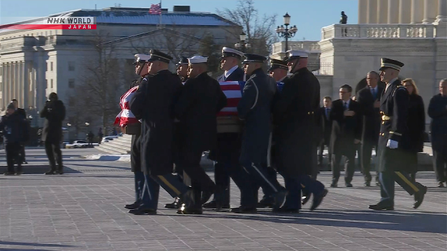
[[[133, 65], [135, 66], [135, 74], [137, 74], [138, 79], [132, 81], [131, 86], [129, 86], [129, 90], [135, 86], [139, 86], [140, 83], [145, 79], [145, 76], [148, 75], [147, 68], [147, 60], [151, 57], [147, 54], [135, 54], [135, 62]], [[145, 80], [146, 81], [146, 80]], [[131, 171], [134, 174], [135, 181], [135, 202], [133, 204], [127, 204], [124, 206], [127, 209], [134, 210], [141, 206], [141, 204], [147, 204], [142, 201], [142, 199], [149, 199], [149, 194], [147, 190], [145, 190], [145, 174], [141, 170], [141, 159], [140, 159], [140, 142], [138, 139], [141, 135], [141, 123], [135, 123], [129, 126], [126, 126], [126, 132], [132, 128], [132, 141], [131, 141]], [[144, 194], [144, 195], [143, 195]]]

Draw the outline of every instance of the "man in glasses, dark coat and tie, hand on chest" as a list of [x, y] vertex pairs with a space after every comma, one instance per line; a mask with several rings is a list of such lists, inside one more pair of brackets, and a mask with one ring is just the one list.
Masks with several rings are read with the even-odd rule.
[[330, 147], [332, 150], [332, 188], [337, 187], [340, 177], [340, 160], [346, 156], [344, 182], [351, 188], [352, 177], [356, 167], [356, 144], [362, 136], [361, 107], [351, 99], [351, 86], [344, 84], [340, 87], [340, 99], [332, 102], [330, 119], [332, 120], [332, 135]]

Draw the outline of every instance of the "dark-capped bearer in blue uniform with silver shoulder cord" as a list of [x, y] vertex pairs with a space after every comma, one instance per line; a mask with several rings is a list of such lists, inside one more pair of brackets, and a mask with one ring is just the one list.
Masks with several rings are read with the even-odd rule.
[[[268, 146], [272, 132], [272, 102], [277, 93], [277, 84], [262, 69], [265, 56], [244, 54], [244, 71], [249, 79], [245, 83], [242, 98], [237, 105], [237, 114], [245, 123], [242, 132], [240, 164], [249, 173], [247, 183], [252, 188], [261, 186], [263, 190], [273, 190], [274, 207], [284, 204], [287, 192], [276, 178], [267, 174]], [[256, 191], [253, 192], [255, 194]], [[251, 198], [251, 205], [233, 208], [234, 213], [255, 213], [257, 198]], [[249, 205], [249, 206], [248, 206]]]

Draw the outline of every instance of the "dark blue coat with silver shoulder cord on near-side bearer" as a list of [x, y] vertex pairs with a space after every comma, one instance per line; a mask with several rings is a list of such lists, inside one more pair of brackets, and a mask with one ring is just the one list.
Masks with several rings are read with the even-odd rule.
[[272, 102], [277, 95], [277, 83], [257, 69], [245, 82], [237, 115], [244, 121], [240, 162], [267, 164], [272, 132]]

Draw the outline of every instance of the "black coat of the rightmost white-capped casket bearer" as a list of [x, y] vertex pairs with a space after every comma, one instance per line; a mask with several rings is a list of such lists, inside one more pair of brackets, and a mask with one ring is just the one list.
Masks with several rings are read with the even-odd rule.
[[307, 68], [284, 79], [274, 105], [277, 120], [277, 171], [286, 176], [312, 175], [316, 166], [316, 131], [320, 83]]

